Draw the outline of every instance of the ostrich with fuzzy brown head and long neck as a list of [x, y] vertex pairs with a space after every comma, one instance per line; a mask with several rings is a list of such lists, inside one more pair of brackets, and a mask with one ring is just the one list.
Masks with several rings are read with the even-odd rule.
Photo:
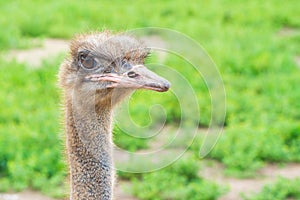
[[167, 91], [170, 83], [143, 64], [144, 44], [126, 34], [75, 37], [60, 66], [70, 199], [113, 199], [112, 110], [136, 89]]

